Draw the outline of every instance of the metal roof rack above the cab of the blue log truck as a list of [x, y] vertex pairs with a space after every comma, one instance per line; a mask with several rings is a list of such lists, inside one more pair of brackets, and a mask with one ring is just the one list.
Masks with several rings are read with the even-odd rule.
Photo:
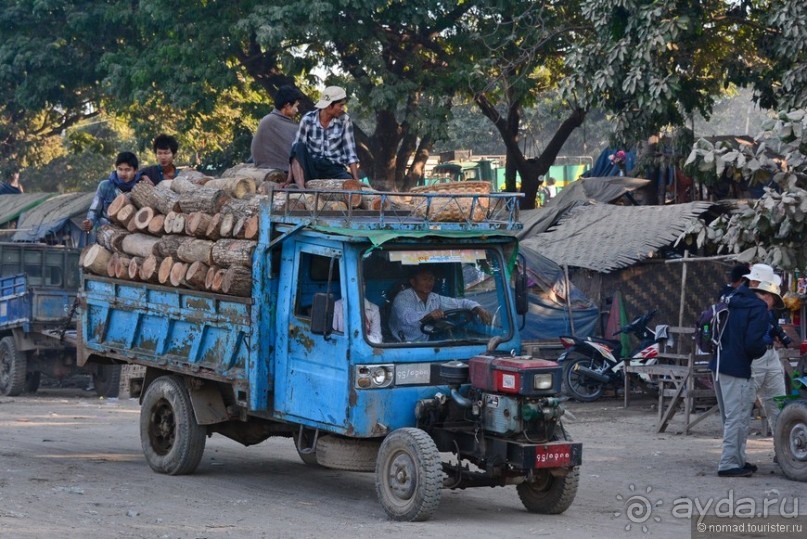
[[521, 230], [518, 199], [522, 196], [276, 189], [264, 204], [272, 222], [292, 225], [358, 230]]

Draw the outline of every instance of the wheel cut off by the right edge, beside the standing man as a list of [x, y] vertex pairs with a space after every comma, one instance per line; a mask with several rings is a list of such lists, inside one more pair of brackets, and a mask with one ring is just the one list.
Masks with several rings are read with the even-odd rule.
[[793, 401], [782, 409], [776, 420], [773, 447], [785, 477], [807, 481], [807, 401]]

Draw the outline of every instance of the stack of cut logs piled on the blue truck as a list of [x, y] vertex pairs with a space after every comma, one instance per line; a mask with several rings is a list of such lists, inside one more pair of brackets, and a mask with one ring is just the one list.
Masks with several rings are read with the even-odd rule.
[[[250, 296], [261, 199], [281, 178], [238, 165], [221, 178], [183, 171], [156, 187], [138, 182], [109, 206], [111, 224], [82, 255], [96, 275]], [[306, 189], [355, 195], [275, 193], [273, 211], [380, 209], [381, 197], [355, 180], [312, 180]], [[361, 191], [359, 193], [359, 191]]]

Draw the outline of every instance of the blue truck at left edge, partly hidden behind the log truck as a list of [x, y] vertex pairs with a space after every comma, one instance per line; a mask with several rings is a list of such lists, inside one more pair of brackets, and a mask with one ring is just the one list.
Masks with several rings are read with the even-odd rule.
[[0, 395], [35, 393], [43, 374], [61, 380], [86, 371], [99, 395], [117, 396], [119, 365], [76, 364], [71, 311], [79, 253], [44, 243], [0, 243]]

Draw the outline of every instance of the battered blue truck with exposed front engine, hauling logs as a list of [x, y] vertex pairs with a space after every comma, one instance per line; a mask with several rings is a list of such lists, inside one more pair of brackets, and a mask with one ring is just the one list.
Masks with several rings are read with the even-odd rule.
[[[405, 211], [400, 193], [376, 196], [375, 212], [264, 202], [249, 297], [83, 274], [79, 363], [145, 367], [131, 392], [158, 473], [192, 473], [214, 433], [282, 436], [306, 464], [374, 472], [394, 520], [477, 486], [565, 511], [582, 446], [561, 420], [558, 364], [520, 355], [517, 197], [420, 194]], [[443, 222], [449, 207], [467, 218]], [[396, 326], [424, 269], [421, 308], [441, 308]]]

